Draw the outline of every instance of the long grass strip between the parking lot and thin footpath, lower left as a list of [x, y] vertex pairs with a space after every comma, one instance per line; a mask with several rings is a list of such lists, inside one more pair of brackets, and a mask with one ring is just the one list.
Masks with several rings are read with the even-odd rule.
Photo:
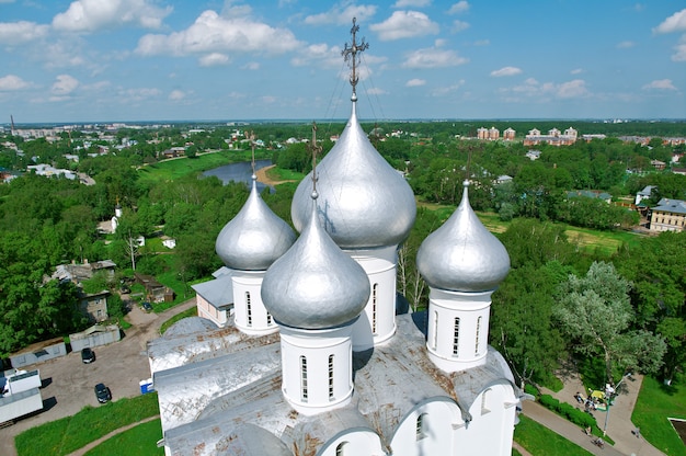
[[19, 456], [68, 455], [114, 430], [158, 413], [156, 394], [87, 406], [75, 415], [22, 432], [14, 445]]

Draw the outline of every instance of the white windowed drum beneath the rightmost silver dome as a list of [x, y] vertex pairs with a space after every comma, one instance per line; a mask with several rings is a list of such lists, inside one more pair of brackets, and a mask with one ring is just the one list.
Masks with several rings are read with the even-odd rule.
[[[482, 365], [488, 353], [491, 295], [431, 288], [428, 294], [428, 357], [442, 371], [458, 372]], [[456, 324], [457, 353], [455, 353]]]

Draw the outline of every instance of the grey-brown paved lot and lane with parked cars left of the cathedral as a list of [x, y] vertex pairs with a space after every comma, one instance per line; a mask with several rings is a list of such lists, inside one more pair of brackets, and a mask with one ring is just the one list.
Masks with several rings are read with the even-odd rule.
[[0, 455], [14, 456], [14, 436], [48, 421], [79, 412], [85, 406], [98, 407], [93, 387], [104, 383], [112, 390], [113, 400], [140, 395], [139, 381], [150, 377], [147, 342], [159, 337], [160, 326], [170, 317], [195, 306], [195, 298], [161, 314], [146, 314], [134, 306], [127, 316], [133, 327], [119, 342], [95, 347], [96, 360], [83, 364], [80, 353], [30, 366], [41, 371], [46, 385], [41, 394], [44, 410], [15, 424], [0, 429]]

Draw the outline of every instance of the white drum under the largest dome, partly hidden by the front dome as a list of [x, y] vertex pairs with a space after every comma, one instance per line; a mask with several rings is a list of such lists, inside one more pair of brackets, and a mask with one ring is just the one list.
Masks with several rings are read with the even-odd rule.
[[367, 273], [369, 299], [353, 327], [356, 352], [382, 344], [396, 333], [396, 246], [370, 250], [347, 250]]

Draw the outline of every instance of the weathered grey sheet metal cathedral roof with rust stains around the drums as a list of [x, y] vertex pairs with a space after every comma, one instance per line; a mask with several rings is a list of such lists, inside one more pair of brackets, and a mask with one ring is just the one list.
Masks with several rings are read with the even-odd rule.
[[253, 440], [264, 440], [264, 445], [275, 448], [265, 454], [289, 454], [279, 453], [283, 446], [265, 437], [267, 431], [286, 448], [297, 446], [300, 453], [316, 454], [323, 444], [353, 429], [377, 433], [387, 445], [398, 424], [422, 402], [455, 400], [469, 420], [467, 410], [488, 386], [502, 381], [514, 386], [495, 350], [489, 347], [484, 366], [446, 374], [426, 355], [425, 314], [398, 316], [397, 324], [397, 333], [387, 344], [354, 353], [352, 402], [315, 417], [296, 412], [285, 401], [276, 343], [158, 373], [160, 411], [172, 417], [163, 420], [163, 425], [168, 424], [165, 445], [173, 455], [194, 454], [201, 446], [198, 454], [227, 454], [220, 449], [228, 447], [227, 436], [235, 435], [231, 448], [247, 455], [260, 454], [254, 453], [259, 445], [250, 446]]

